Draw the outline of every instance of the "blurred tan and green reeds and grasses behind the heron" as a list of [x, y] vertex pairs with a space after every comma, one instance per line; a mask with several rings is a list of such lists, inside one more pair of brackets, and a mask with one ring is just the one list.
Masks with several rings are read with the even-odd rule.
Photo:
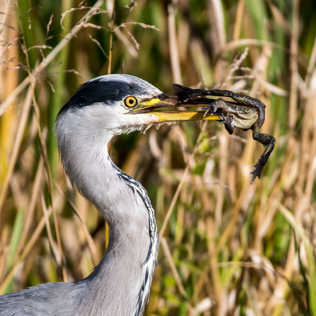
[[[160, 231], [145, 315], [316, 316], [316, 2], [2, 0], [0, 294], [86, 277], [108, 228], [67, 180], [53, 125], [78, 85], [129, 73], [246, 93], [277, 144], [181, 123], [113, 139]], [[31, 83], [31, 84], [30, 84]], [[53, 208], [52, 208], [53, 206]]]

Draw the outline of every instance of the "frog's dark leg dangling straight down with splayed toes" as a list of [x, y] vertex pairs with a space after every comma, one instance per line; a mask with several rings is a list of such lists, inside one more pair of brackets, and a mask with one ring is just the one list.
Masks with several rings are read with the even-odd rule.
[[256, 176], [258, 176], [259, 179], [261, 178], [261, 172], [263, 170], [263, 167], [268, 161], [268, 158], [270, 154], [272, 153], [272, 150], [275, 145], [275, 138], [269, 134], [259, 133], [259, 129], [260, 129], [259, 125], [253, 126], [252, 138], [262, 143], [263, 146], [265, 146], [265, 150], [263, 154], [260, 156], [260, 158], [258, 159], [257, 163], [253, 165], [255, 169], [250, 172], [250, 174], [253, 175], [250, 184], [253, 183]]

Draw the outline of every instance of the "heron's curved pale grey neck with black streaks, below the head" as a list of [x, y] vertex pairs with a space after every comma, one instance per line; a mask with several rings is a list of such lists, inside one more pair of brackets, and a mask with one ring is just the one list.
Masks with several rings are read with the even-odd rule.
[[[146, 190], [109, 158], [106, 141], [93, 143], [88, 150], [82, 143], [67, 152], [63, 164], [70, 181], [102, 212], [110, 228], [105, 256], [85, 281], [93, 287], [91, 293], [99, 288], [96, 295], [100, 295], [100, 304], [106, 297], [104, 308], [110, 308], [109, 301], [120, 302], [120, 306], [111, 307], [113, 315], [138, 316], [147, 303], [157, 261], [154, 211]], [[91, 145], [91, 141], [88, 143]], [[119, 284], [106, 287], [118, 280]]]

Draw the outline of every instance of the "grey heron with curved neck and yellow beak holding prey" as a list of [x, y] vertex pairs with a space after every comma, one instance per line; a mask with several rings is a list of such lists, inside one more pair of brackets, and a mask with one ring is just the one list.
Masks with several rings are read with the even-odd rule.
[[140, 78], [113, 74], [86, 82], [62, 107], [55, 123], [60, 159], [72, 185], [105, 217], [108, 247], [81, 281], [0, 296], [0, 316], [142, 315], [157, 262], [154, 210], [141, 184], [112, 162], [107, 144], [114, 135], [156, 123], [219, 119], [166, 109], [177, 105], [176, 96]]

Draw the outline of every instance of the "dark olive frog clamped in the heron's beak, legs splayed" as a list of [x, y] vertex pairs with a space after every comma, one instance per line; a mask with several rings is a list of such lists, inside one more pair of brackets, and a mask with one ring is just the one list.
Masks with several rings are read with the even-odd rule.
[[[174, 94], [177, 95], [179, 103], [185, 103], [193, 97], [199, 96], [229, 97], [236, 101], [229, 102], [222, 98], [212, 99], [209, 105], [203, 107], [203, 109], [205, 109], [204, 117], [208, 113], [212, 116], [213, 113], [216, 112], [221, 118], [220, 122], [224, 123], [224, 126], [230, 135], [233, 133], [235, 127], [244, 131], [249, 129], [252, 131], [252, 138], [259, 141], [263, 147], [265, 147], [265, 150], [257, 163], [253, 165], [254, 170], [250, 172], [250, 174], [252, 174], [250, 184], [253, 184], [256, 177], [261, 179], [263, 167], [267, 163], [276, 143], [276, 140], [272, 135], [260, 133], [260, 128], [265, 120], [264, 103], [256, 98], [230, 90], [192, 89], [178, 84], [174, 84], [173, 87]], [[199, 98], [197, 98], [196, 103], [198, 103], [198, 99]], [[203, 100], [205, 101], [206, 99], [204, 98]]]

